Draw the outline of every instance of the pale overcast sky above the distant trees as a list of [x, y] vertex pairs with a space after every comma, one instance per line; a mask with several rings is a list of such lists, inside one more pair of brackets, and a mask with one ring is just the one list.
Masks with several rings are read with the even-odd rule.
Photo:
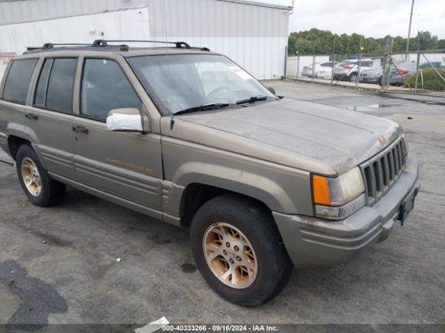
[[[292, 0], [254, 0], [291, 6]], [[412, 0], [295, 0], [289, 32], [318, 28], [366, 37], [407, 37]], [[411, 36], [430, 31], [445, 38], [445, 0], [415, 0]]]

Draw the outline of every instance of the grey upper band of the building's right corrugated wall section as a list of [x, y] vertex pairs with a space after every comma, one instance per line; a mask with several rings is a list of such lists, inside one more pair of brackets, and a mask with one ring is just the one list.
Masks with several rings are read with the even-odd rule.
[[153, 37], [288, 35], [289, 12], [280, 8], [216, 0], [149, 0], [148, 8]]

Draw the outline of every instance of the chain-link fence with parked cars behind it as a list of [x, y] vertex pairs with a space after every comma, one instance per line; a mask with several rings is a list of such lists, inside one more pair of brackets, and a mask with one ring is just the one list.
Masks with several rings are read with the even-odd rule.
[[287, 78], [325, 85], [445, 96], [445, 50], [393, 53], [388, 40], [383, 54], [296, 56], [287, 60]]

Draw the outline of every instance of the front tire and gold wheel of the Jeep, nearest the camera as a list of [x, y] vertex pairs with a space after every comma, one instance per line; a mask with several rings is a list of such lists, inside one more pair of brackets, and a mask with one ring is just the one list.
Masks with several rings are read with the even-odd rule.
[[191, 225], [191, 246], [210, 287], [238, 305], [272, 300], [291, 277], [293, 265], [273, 216], [242, 196], [204, 203]]

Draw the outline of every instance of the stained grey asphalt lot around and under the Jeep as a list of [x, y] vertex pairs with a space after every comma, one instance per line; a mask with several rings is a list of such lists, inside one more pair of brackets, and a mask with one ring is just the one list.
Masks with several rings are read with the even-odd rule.
[[266, 84], [403, 125], [410, 154], [422, 161], [421, 191], [403, 227], [350, 264], [294, 270], [275, 300], [243, 308], [219, 298], [196, 271], [188, 230], [72, 188], [61, 205], [35, 207], [15, 168], [0, 164], [0, 323], [42, 324], [34, 330], [143, 325], [162, 316], [170, 323], [445, 323], [445, 106], [427, 97]]

